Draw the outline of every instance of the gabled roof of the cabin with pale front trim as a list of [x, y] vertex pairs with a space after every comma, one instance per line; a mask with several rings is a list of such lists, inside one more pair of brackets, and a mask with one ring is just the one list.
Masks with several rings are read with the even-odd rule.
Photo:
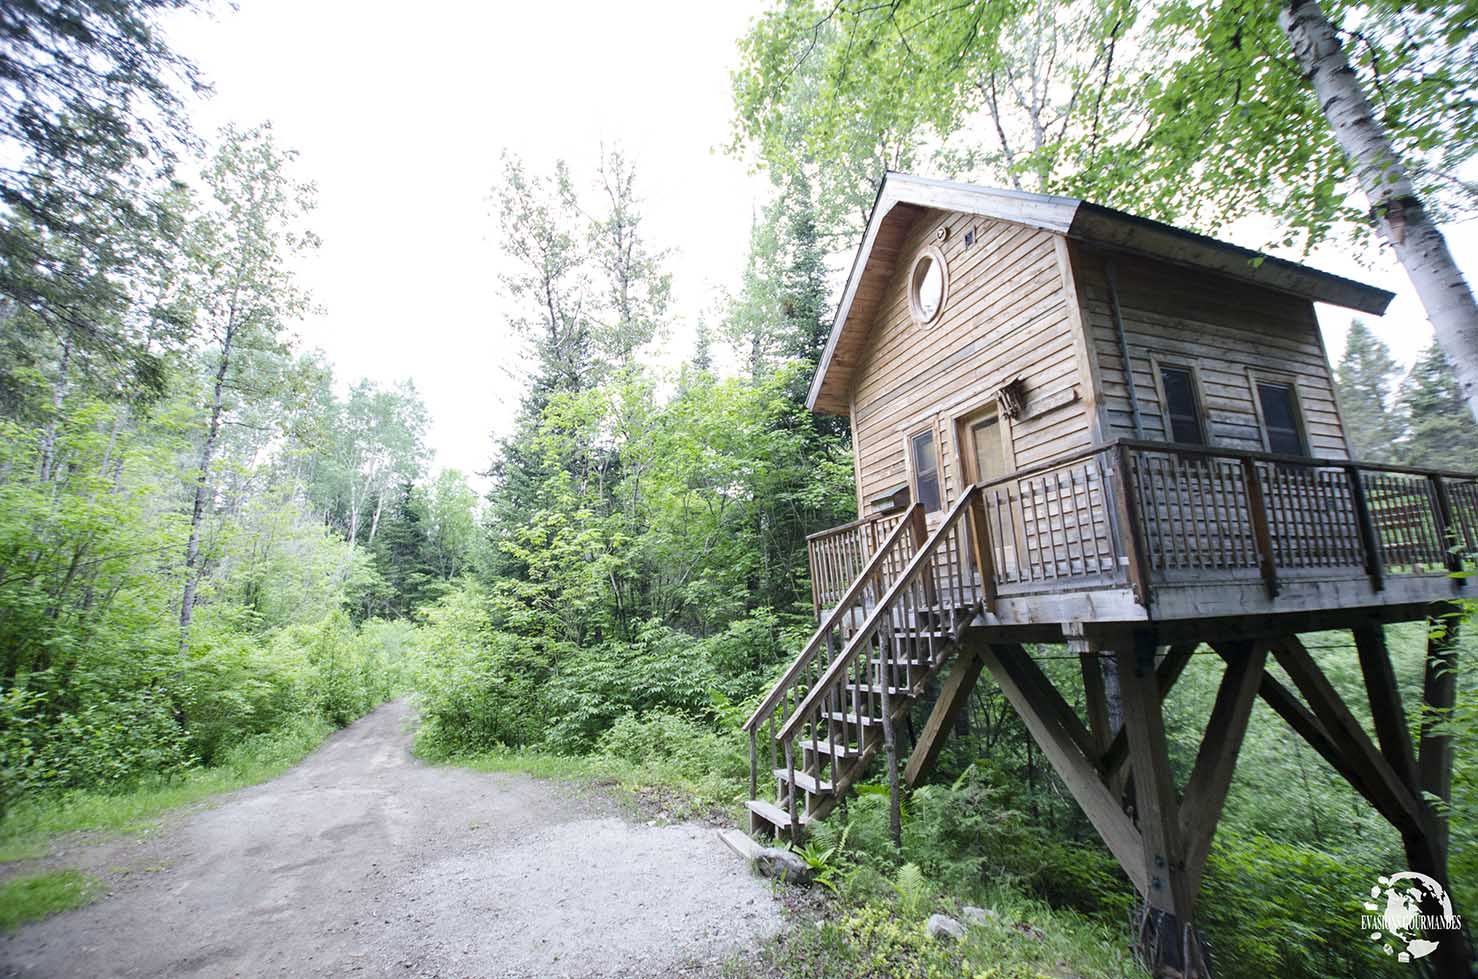
[[909, 228], [930, 209], [1029, 225], [1377, 316], [1394, 299], [1383, 288], [1072, 197], [933, 180], [890, 170], [878, 186], [868, 229], [837, 306], [831, 339], [811, 380], [806, 404], [813, 411], [847, 414], [850, 410], [851, 374], [866, 348], [876, 303], [893, 277]]

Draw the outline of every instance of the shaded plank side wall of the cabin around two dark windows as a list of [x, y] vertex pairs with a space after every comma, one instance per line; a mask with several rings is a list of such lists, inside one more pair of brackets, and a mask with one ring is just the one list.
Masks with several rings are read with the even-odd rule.
[[[1098, 355], [1106, 438], [1134, 435], [1104, 253], [1076, 254], [1073, 272], [1088, 300], [1091, 349]], [[1293, 377], [1314, 455], [1349, 457], [1312, 303], [1153, 259], [1116, 254], [1113, 260], [1144, 438], [1166, 438], [1153, 356], [1196, 368], [1213, 445], [1264, 448], [1250, 368]]]

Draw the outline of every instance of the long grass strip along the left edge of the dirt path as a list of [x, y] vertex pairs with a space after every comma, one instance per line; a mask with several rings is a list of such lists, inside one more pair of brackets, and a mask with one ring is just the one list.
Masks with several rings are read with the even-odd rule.
[[120, 793], [71, 791], [16, 803], [0, 819], [0, 862], [43, 856], [53, 837], [77, 830], [129, 833], [170, 809], [276, 778], [302, 762], [334, 728], [299, 719], [234, 745], [220, 765], [183, 778], [142, 782]]

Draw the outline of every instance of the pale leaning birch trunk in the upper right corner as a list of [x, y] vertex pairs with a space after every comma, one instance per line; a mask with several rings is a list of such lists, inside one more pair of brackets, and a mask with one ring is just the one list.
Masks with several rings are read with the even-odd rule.
[[1453, 362], [1468, 410], [1478, 419], [1478, 302], [1447, 240], [1422, 207], [1318, 0], [1292, 0], [1278, 12], [1278, 25], [1314, 86], [1335, 139], [1355, 167], [1376, 228], [1406, 269], [1437, 342]]

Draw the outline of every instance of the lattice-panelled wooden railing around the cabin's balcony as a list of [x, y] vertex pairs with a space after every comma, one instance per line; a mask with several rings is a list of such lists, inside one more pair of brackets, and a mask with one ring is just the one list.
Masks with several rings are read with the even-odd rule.
[[[1277, 597], [1299, 578], [1380, 590], [1451, 575], [1478, 552], [1472, 473], [1120, 439], [967, 492], [978, 500], [973, 546], [939, 572], [978, 583], [987, 602], [1129, 587], [1150, 605], [1157, 587], [1258, 581]], [[817, 609], [847, 592], [897, 519], [811, 538]]]

